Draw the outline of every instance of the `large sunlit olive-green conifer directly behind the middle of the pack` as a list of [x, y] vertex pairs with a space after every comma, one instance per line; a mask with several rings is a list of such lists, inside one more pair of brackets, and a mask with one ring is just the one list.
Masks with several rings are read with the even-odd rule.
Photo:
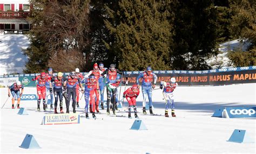
[[107, 47], [116, 53], [120, 69], [170, 69], [170, 12], [163, 2], [119, 1], [117, 11], [107, 8], [105, 24], [115, 40]]

